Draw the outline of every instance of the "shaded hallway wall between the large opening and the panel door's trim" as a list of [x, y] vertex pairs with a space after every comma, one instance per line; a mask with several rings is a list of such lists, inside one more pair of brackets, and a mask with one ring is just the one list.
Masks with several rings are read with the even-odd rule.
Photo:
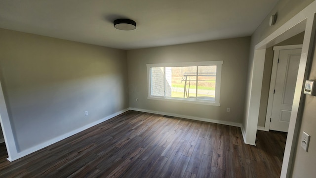
[[[301, 45], [304, 40], [304, 32], [293, 36], [275, 46], [282, 45]], [[271, 81], [272, 63], [273, 63], [273, 46], [266, 49], [265, 65], [262, 79], [262, 89], [261, 89], [261, 99], [260, 99], [260, 109], [259, 109], [259, 120], [258, 126], [265, 127], [267, 106], [268, 106], [268, 96]]]

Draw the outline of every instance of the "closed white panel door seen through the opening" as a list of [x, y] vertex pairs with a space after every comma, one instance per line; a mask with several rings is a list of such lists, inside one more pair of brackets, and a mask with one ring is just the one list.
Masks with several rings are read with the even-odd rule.
[[301, 51], [279, 51], [270, 130], [288, 131]]

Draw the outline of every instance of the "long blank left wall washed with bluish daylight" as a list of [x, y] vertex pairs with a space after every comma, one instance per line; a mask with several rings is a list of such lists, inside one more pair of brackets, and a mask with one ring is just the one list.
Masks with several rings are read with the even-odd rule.
[[129, 104], [124, 50], [0, 29], [0, 76], [19, 151]]

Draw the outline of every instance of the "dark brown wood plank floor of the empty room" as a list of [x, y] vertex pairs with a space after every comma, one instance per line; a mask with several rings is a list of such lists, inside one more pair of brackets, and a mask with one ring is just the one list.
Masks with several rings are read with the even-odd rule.
[[286, 134], [127, 111], [14, 162], [0, 178], [277, 178]]

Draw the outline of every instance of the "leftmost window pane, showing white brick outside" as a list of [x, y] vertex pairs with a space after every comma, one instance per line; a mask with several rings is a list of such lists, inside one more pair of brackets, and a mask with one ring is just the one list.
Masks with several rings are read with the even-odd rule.
[[151, 95], [152, 96], [163, 96], [163, 67], [151, 67]]

